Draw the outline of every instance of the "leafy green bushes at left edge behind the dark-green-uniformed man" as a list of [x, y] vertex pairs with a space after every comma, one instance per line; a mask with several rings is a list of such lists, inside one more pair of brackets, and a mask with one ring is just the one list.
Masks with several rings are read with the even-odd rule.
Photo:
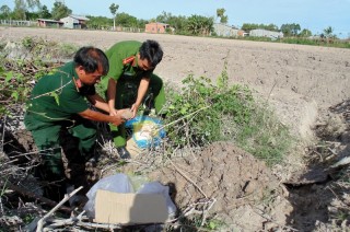
[[0, 117], [9, 115], [11, 106], [26, 102], [34, 83], [55, 70], [57, 59], [71, 57], [77, 50], [72, 45], [35, 37], [24, 37], [15, 45], [15, 49], [27, 55], [7, 58], [9, 51], [1, 48], [0, 55], [4, 58], [0, 59]]

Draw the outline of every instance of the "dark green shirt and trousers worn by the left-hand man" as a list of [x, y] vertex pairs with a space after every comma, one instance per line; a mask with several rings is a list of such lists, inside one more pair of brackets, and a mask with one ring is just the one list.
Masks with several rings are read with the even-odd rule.
[[[43, 159], [40, 175], [47, 181], [65, 179], [61, 144], [71, 135], [78, 152], [68, 152], [72, 162], [85, 162], [94, 150], [95, 125], [78, 113], [89, 108], [86, 95], [94, 95], [93, 85], [78, 89], [74, 63], [69, 62], [51, 76], [38, 80], [33, 89], [24, 123], [33, 135]], [[44, 176], [43, 176], [44, 175]]]

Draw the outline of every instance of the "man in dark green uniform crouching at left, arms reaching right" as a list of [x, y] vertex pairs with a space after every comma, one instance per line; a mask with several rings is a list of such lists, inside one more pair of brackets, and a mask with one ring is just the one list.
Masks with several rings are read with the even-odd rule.
[[[108, 59], [101, 49], [82, 47], [72, 62], [66, 63], [54, 74], [44, 76], [34, 86], [24, 123], [42, 154], [39, 177], [59, 186], [46, 188], [50, 192], [46, 194], [55, 190], [63, 194], [63, 183], [72, 181], [65, 176], [60, 149], [63, 137], [71, 135], [79, 150], [67, 155], [72, 155], [73, 163], [84, 164], [92, 158], [96, 140], [96, 127], [91, 120], [115, 126], [124, 123], [120, 114], [112, 116], [89, 108], [88, 101], [109, 113], [108, 104], [96, 94], [94, 86], [108, 69]], [[60, 199], [61, 196], [57, 197]]]

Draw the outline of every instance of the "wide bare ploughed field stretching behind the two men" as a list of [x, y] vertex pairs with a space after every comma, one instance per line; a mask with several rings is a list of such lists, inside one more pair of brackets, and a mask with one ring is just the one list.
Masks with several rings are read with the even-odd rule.
[[188, 74], [215, 81], [228, 62], [231, 83], [247, 84], [276, 106], [282, 121], [308, 138], [317, 112], [350, 97], [350, 50], [330, 47], [144, 33], [0, 27], [1, 39], [39, 36], [107, 49], [120, 40], [155, 39], [164, 49], [155, 72], [178, 85]]

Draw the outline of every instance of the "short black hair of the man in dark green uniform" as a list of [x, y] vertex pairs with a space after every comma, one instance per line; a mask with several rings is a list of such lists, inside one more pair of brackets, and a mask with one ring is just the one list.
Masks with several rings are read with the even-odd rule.
[[95, 72], [98, 70], [98, 66], [103, 69], [103, 76], [109, 71], [108, 58], [98, 48], [88, 46], [81, 47], [74, 56], [75, 67], [82, 66], [88, 73]]

